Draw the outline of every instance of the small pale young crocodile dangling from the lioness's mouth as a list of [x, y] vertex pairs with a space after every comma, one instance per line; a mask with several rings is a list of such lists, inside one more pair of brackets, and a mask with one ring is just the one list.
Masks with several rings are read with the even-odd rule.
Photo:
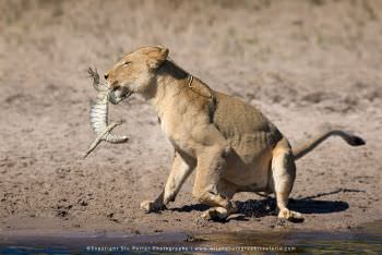
[[89, 69], [88, 73], [93, 78], [94, 88], [98, 92], [96, 102], [91, 106], [91, 124], [97, 137], [85, 153], [84, 158], [86, 158], [102, 141], [119, 144], [126, 143], [129, 139], [127, 136], [118, 136], [110, 133], [114, 127], [121, 124], [121, 122], [108, 124], [108, 98], [111, 90], [108, 89], [105, 84], [100, 84], [99, 75], [96, 70]]

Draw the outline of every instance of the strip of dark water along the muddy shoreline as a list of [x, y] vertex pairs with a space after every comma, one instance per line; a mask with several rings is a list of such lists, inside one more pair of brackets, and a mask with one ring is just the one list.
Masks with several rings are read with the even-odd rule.
[[[172, 251], [171, 251], [172, 250]], [[382, 221], [349, 232], [164, 233], [123, 236], [73, 233], [64, 236], [1, 236], [0, 254], [73, 254], [164, 252], [241, 254], [314, 253], [381, 254]]]

